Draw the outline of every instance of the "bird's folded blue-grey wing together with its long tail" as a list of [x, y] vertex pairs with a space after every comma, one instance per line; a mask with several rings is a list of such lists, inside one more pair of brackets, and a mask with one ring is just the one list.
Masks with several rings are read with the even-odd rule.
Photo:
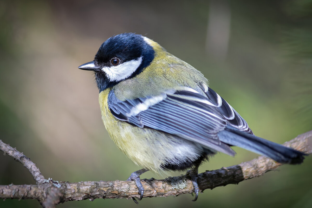
[[[212, 89], [207, 88], [205, 95], [184, 88], [121, 101], [111, 90], [108, 106], [119, 120], [177, 135], [199, 143], [212, 153], [234, 156], [231, 145], [264, 154], [278, 162], [301, 161], [301, 152], [254, 136], [246, 121]], [[285, 153], [290, 155], [285, 156]]]

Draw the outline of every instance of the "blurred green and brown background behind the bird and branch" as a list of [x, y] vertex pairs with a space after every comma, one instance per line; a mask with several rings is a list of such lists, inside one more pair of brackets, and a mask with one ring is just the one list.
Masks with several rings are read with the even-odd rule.
[[[140, 169], [110, 140], [93, 74], [79, 70], [123, 32], [154, 39], [193, 65], [249, 123], [277, 143], [312, 129], [312, 1], [0, 1], [0, 139], [58, 181], [125, 180]], [[257, 155], [234, 147], [200, 172]], [[312, 207], [312, 158], [191, 195], [72, 201], [58, 207]], [[173, 173], [179, 175], [184, 173]], [[155, 177], [147, 172], [142, 178]], [[0, 184], [35, 184], [0, 155]], [[35, 200], [0, 207], [41, 207]]]

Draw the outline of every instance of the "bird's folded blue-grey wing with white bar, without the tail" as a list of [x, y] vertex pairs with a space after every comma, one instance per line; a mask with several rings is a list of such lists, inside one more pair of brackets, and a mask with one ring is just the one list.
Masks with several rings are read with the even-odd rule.
[[156, 96], [119, 100], [113, 90], [108, 106], [115, 118], [140, 128], [149, 127], [199, 143], [209, 149], [234, 155], [217, 133], [227, 125], [248, 131], [244, 119], [216, 92], [184, 87]]

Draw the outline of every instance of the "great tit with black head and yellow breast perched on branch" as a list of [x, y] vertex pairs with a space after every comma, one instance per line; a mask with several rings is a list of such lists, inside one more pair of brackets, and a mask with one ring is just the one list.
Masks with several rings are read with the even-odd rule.
[[138, 186], [139, 200], [142, 173], [191, 169], [196, 201], [198, 166], [217, 152], [234, 156], [231, 146], [281, 163], [303, 162], [304, 153], [256, 137], [200, 71], [147, 37], [112, 36], [78, 68], [94, 71], [106, 130], [143, 167], [128, 178]]

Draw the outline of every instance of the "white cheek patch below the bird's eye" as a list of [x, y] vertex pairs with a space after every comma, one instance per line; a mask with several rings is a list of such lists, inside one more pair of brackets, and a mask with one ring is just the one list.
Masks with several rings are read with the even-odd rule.
[[117, 66], [105, 66], [102, 68], [110, 81], [120, 81], [127, 79], [142, 63], [142, 57], [130, 60]]

